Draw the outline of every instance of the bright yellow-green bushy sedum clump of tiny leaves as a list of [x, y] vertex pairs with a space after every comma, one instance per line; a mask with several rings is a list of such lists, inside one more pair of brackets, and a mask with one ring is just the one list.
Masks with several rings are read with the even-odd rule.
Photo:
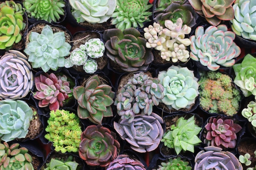
[[56, 152], [78, 152], [82, 130], [74, 113], [52, 110], [47, 123], [45, 139], [53, 143]]

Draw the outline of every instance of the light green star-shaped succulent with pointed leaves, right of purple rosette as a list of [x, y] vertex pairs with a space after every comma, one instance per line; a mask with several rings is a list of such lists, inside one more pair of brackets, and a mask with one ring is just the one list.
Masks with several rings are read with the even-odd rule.
[[164, 146], [173, 148], [177, 155], [182, 150], [194, 152], [194, 146], [202, 142], [197, 136], [201, 129], [195, 124], [194, 115], [189, 119], [180, 117], [175, 124], [167, 128], [161, 141], [164, 142]]

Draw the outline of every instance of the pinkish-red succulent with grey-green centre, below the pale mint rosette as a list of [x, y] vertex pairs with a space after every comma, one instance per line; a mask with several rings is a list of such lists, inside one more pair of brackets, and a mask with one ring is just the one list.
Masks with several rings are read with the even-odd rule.
[[39, 107], [49, 106], [50, 110], [57, 110], [63, 106], [65, 99], [68, 99], [70, 90], [70, 82], [67, 81], [66, 75], [59, 75], [54, 73], [40, 74], [35, 77], [36, 93], [34, 98], [39, 100]]

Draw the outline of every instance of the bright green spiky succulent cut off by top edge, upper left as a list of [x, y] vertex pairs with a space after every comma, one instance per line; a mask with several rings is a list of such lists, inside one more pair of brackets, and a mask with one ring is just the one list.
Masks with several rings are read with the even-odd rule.
[[24, 0], [23, 6], [30, 18], [58, 22], [64, 16], [65, 0]]

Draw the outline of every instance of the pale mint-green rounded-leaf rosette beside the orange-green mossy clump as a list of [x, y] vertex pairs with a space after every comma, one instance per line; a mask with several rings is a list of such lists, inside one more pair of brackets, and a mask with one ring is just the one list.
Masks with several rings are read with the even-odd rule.
[[164, 86], [164, 98], [161, 100], [169, 110], [190, 108], [199, 95], [198, 78], [187, 67], [170, 66], [167, 71], [159, 71], [158, 79]]

